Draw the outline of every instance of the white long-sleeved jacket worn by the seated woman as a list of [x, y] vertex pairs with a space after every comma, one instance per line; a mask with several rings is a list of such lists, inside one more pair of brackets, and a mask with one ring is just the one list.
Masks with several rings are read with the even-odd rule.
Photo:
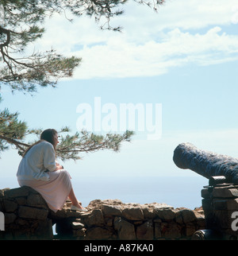
[[48, 171], [56, 170], [56, 153], [53, 145], [43, 141], [33, 145], [18, 166], [18, 180], [49, 180]]

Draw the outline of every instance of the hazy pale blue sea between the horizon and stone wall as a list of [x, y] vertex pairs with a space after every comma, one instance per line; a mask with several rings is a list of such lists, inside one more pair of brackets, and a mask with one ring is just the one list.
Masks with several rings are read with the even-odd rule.
[[[123, 203], [163, 203], [194, 210], [202, 206], [202, 176], [77, 176], [72, 178], [83, 207], [92, 200], [117, 199]], [[19, 187], [16, 177], [0, 177], [0, 189]]]

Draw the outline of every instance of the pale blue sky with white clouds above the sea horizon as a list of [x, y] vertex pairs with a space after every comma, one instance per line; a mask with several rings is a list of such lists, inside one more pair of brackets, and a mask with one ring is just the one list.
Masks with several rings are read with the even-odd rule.
[[[53, 47], [82, 57], [80, 67], [71, 79], [33, 96], [3, 88], [1, 108], [19, 112], [31, 128], [69, 126], [75, 133], [83, 125], [93, 131], [100, 126], [97, 133], [105, 134], [134, 125], [132, 142], [123, 143], [120, 153], [65, 161], [75, 179], [198, 176], [172, 161], [182, 142], [238, 157], [237, 0], [167, 0], [157, 13], [129, 1], [124, 10], [111, 23], [121, 25], [121, 33], [102, 31], [89, 17], [46, 21], [44, 37], [28, 51]], [[123, 118], [125, 106], [138, 107], [138, 117]], [[16, 179], [20, 161], [16, 150], [2, 153], [2, 180]]]

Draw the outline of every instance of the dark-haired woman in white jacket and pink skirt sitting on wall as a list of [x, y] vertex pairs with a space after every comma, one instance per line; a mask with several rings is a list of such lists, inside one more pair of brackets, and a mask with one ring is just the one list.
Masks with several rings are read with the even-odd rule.
[[17, 171], [18, 183], [39, 192], [52, 211], [62, 209], [67, 197], [72, 202], [71, 210], [86, 211], [75, 197], [71, 176], [56, 161], [58, 143], [56, 130], [44, 130], [40, 141], [30, 146], [22, 157]]

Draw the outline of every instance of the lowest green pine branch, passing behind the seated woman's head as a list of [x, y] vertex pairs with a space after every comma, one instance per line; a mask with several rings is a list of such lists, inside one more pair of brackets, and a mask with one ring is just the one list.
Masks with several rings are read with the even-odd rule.
[[[27, 129], [26, 123], [17, 120], [18, 113], [10, 114], [8, 110], [0, 112], [0, 152], [7, 149], [7, 145], [13, 145], [22, 156], [25, 150], [38, 141], [41, 129]], [[93, 153], [98, 150], [109, 149], [119, 151], [121, 142], [130, 142], [132, 131], [125, 134], [106, 134], [106, 136], [89, 133], [82, 130], [74, 135], [61, 134], [69, 133], [67, 126], [58, 131], [61, 142], [56, 148], [56, 155], [63, 161], [66, 159], [81, 159], [80, 153]], [[34, 142], [25, 142], [28, 135], [36, 135]]]

